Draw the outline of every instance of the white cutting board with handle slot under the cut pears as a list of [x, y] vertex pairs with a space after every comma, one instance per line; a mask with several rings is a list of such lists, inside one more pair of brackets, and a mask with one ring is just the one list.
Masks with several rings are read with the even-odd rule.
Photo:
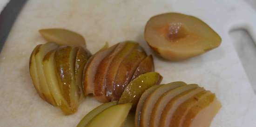
[[[240, 0], [29, 0], [0, 53], [0, 127], [75, 127], [100, 103], [87, 97], [78, 112], [64, 116], [44, 102], [32, 85], [28, 61], [37, 44], [45, 43], [38, 30], [61, 27], [81, 33], [95, 53], [106, 42], [141, 43], [151, 16], [166, 12], [194, 15], [222, 37], [213, 51], [181, 62], [168, 62], [154, 54], [162, 83], [198, 83], [216, 93], [222, 108], [211, 127], [256, 127], [254, 94], [229, 30], [247, 28], [256, 40], [256, 13]], [[102, 125], [103, 127], [103, 125]]]

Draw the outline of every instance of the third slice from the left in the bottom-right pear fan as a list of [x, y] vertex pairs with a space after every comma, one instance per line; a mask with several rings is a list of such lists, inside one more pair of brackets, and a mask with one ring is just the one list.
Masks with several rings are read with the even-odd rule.
[[181, 94], [182, 92], [195, 88], [198, 88], [198, 85], [184, 85], [175, 89], [171, 89], [168, 92], [161, 95], [160, 98], [155, 103], [154, 108], [152, 109], [152, 113], [150, 115], [149, 120], [149, 127], [159, 127], [162, 111], [168, 104], [169, 100]]

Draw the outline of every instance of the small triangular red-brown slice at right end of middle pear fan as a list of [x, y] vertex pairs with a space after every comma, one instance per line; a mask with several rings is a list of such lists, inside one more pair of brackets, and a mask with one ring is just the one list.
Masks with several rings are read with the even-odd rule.
[[154, 60], [152, 55], [149, 55], [141, 61], [133, 74], [132, 80], [141, 74], [153, 71], [155, 71]]

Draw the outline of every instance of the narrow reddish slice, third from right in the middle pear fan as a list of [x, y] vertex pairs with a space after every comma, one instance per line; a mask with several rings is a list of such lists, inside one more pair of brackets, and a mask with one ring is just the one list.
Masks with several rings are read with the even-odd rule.
[[111, 66], [108, 68], [108, 74], [106, 76], [106, 83], [107, 83], [107, 89], [106, 89], [106, 96], [108, 98], [108, 101], [111, 101], [113, 98], [113, 91], [114, 91], [114, 82], [115, 76], [117, 74], [117, 71], [119, 69], [119, 66], [121, 62], [125, 59], [126, 56], [128, 56], [133, 49], [138, 47], [138, 43], [132, 42], [132, 41], [126, 41], [125, 46], [123, 49], [113, 58], [112, 62], [110, 63]]

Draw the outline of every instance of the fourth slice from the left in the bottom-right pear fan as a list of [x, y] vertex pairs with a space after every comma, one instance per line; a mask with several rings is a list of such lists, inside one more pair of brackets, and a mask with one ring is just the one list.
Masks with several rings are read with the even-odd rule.
[[[191, 85], [187, 85], [189, 87]], [[196, 85], [197, 86], [197, 85]], [[190, 97], [194, 96], [197, 93], [200, 93], [204, 91], [205, 89], [203, 88], [194, 88], [194, 89], [189, 89], [187, 91], [182, 92], [179, 95], [176, 95], [174, 98], [171, 98], [168, 100], [168, 104], [164, 109], [162, 109], [162, 114], [160, 118], [160, 122], [158, 127], [169, 127], [170, 126], [170, 121], [172, 119], [172, 116], [176, 109], [185, 101], [187, 101]]]

